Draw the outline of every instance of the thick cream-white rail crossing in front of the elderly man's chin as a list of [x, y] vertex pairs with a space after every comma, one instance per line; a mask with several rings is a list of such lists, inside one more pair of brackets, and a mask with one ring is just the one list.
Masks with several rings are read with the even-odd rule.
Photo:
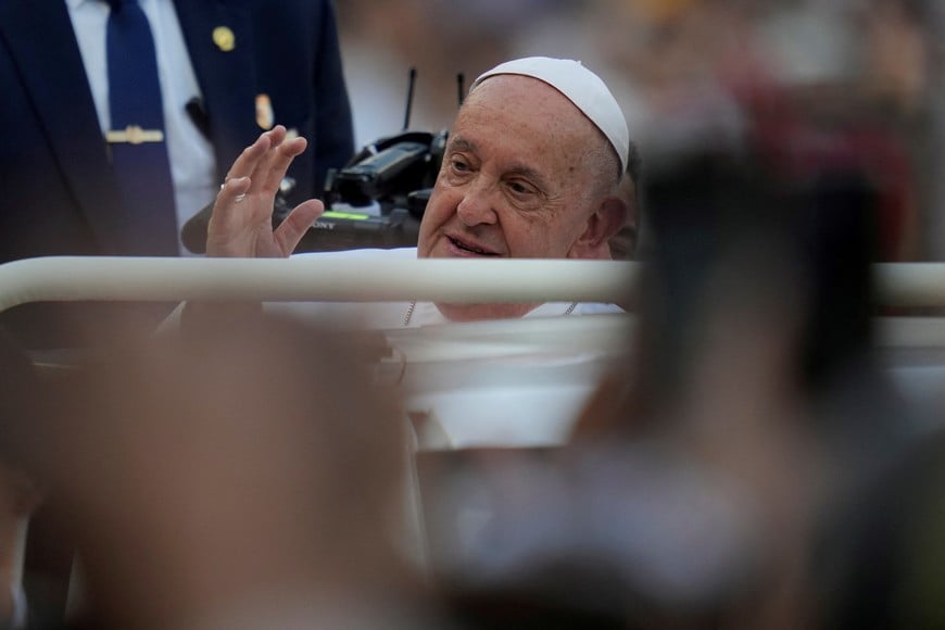
[[0, 265], [0, 311], [40, 301], [614, 302], [635, 263], [49, 256]]

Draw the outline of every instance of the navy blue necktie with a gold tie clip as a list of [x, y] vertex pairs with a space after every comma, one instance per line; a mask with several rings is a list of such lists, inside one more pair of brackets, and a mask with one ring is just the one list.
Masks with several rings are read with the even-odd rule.
[[137, 0], [108, 0], [111, 130], [105, 139], [122, 193], [116, 226], [129, 255], [176, 255], [177, 225], [158, 60]]

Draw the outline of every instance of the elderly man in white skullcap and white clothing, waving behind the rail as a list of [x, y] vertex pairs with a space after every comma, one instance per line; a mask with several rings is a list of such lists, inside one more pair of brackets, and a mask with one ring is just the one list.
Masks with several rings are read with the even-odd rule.
[[[318, 217], [317, 200], [272, 229], [273, 200], [303, 138], [277, 127], [230, 168], [207, 230], [207, 254], [286, 256]], [[414, 250], [355, 255], [609, 259], [623, 225], [619, 192], [629, 154], [626, 119], [600, 77], [579, 62], [511, 61], [486, 72], [463, 103]], [[584, 304], [417, 304], [380, 326], [581, 314]]]

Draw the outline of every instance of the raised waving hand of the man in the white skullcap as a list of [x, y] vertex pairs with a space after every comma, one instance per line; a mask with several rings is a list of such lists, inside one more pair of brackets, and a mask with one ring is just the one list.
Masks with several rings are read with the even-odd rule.
[[209, 256], [284, 257], [292, 253], [305, 230], [325, 211], [320, 201], [310, 199], [273, 229], [279, 184], [305, 147], [304, 138], [287, 139], [286, 128], [277, 125], [243, 150], [213, 205], [206, 234]]

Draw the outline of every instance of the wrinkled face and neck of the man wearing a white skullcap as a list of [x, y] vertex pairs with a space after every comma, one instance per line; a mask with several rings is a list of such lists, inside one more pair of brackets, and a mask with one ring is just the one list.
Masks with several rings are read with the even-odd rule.
[[[418, 238], [420, 257], [588, 257], [581, 237], [601, 203], [606, 142], [551, 86], [500, 75], [463, 104]], [[520, 316], [531, 305], [438, 304], [452, 319]]]

